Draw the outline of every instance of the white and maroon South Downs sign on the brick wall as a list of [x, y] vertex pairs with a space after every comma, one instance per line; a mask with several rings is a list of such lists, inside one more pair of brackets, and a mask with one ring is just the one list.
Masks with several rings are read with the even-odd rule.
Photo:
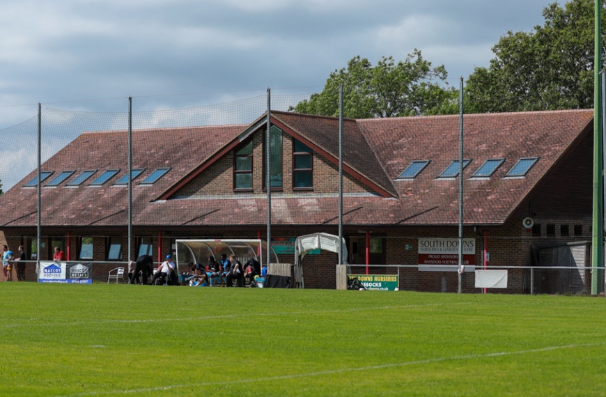
[[[419, 270], [456, 272], [459, 264], [458, 238], [419, 238]], [[476, 270], [476, 239], [463, 239], [465, 272]]]

